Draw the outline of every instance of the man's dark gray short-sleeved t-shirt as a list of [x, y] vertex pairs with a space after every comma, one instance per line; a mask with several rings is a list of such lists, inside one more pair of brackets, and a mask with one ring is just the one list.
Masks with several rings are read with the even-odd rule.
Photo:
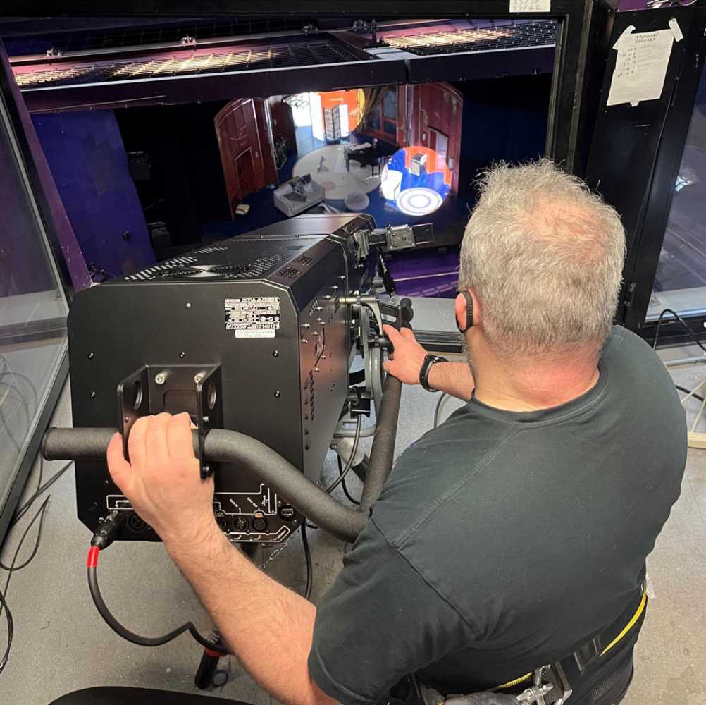
[[345, 705], [419, 672], [497, 685], [614, 622], [679, 495], [686, 422], [650, 347], [614, 328], [593, 389], [509, 412], [475, 398], [397, 460], [318, 608], [309, 670]]

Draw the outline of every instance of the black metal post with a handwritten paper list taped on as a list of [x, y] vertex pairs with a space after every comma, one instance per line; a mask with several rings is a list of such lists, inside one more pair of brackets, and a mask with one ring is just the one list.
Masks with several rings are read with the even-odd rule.
[[[633, 25], [636, 32], [664, 30], [678, 21], [684, 39], [674, 42], [659, 100], [606, 106], [616, 55], [611, 47]], [[650, 11], [611, 13], [606, 24], [606, 66], [587, 162], [587, 183], [621, 214], [628, 256], [616, 321], [654, 338], [654, 322], [645, 315], [664, 242], [688, 125], [706, 54], [706, 3]], [[706, 317], [686, 316], [693, 333], [704, 335]], [[662, 343], [683, 342], [687, 335], [669, 319], [660, 328]]]

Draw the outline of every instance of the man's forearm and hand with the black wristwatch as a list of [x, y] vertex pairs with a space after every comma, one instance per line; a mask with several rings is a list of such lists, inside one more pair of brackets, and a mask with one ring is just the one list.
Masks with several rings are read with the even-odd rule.
[[[383, 329], [395, 348], [390, 360], [383, 365], [385, 372], [405, 384], [419, 384], [419, 370], [426, 357], [426, 350], [417, 343], [409, 328], [397, 331], [393, 326], [383, 326]], [[436, 362], [429, 370], [429, 386], [468, 401], [475, 384], [471, 368], [466, 362]]]

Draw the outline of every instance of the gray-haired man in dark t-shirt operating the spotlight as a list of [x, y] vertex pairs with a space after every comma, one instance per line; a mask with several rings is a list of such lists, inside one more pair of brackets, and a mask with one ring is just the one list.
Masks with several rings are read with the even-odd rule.
[[624, 251], [617, 213], [551, 162], [486, 174], [454, 304], [470, 365], [385, 328], [388, 373], [467, 404], [397, 460], [318, 608], [219, 531], [188, 417], [138, 421], [131, 463], [113, 439], [114, 481], [268, 692], [291, 705], [623, 699], [645, 559], [686, 463], [669, 374], [612, 327]]

